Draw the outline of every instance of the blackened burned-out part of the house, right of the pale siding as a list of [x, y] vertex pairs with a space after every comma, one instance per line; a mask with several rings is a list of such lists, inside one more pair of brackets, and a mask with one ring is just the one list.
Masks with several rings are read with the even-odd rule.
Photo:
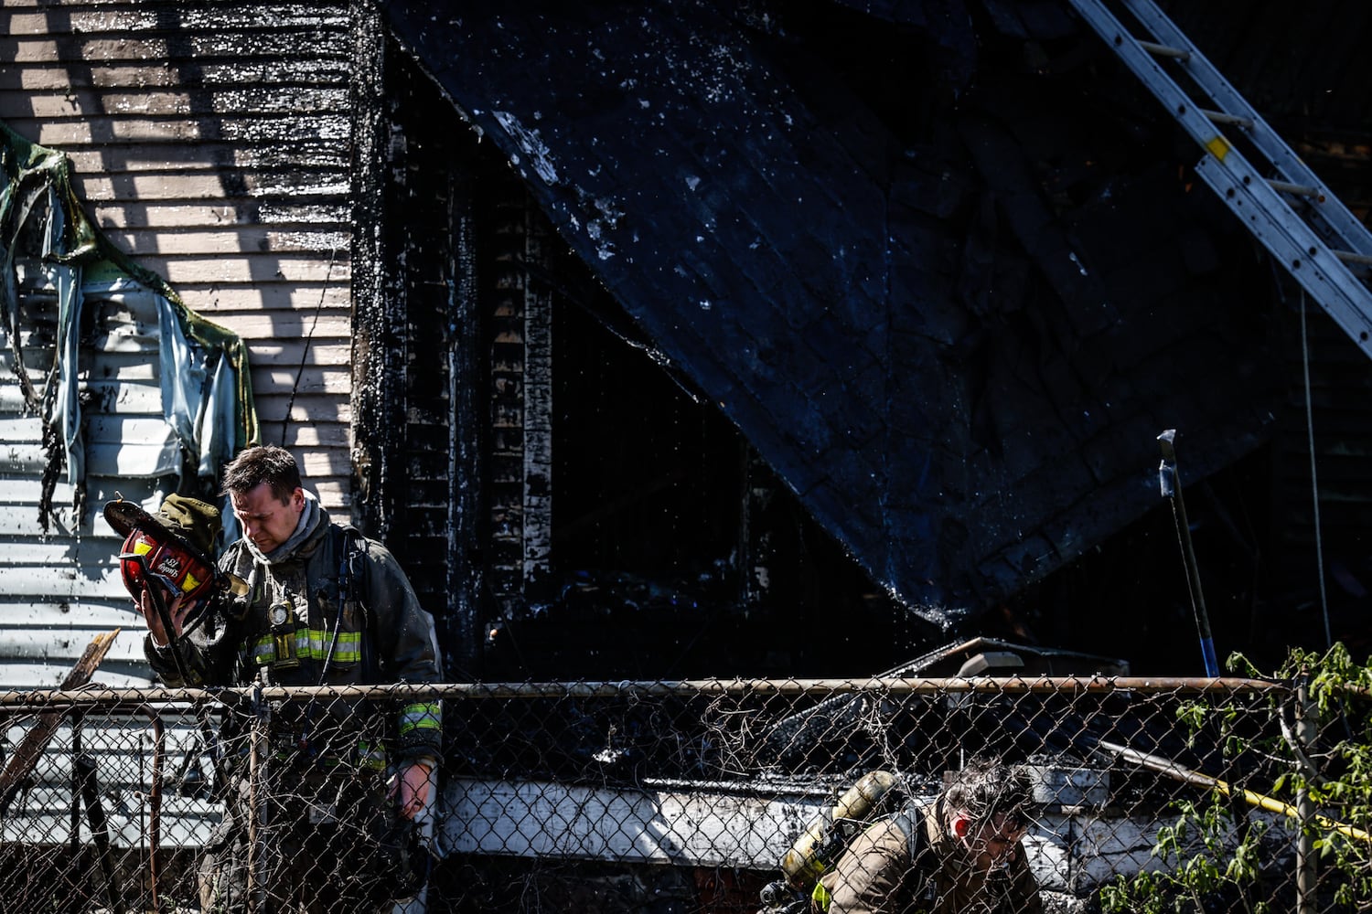
[[[1221, 67], [1246, 59], [1211, 16], [1184, 25]], [[1328, 347], [1313, 378], [1365, 377], [1365, 356], [1066, 5], [384, 19], [376, 199], [406, 218], [380, 285], [405, 291], [412, 338], [462, 328], [450, 365], [472, 384], [439, 426], [476, 492], [445, 507], [480, 552], [450, 584], [495, 619], [498, 676], [852, 673], [969, 629], [1170, 669], [1195, 630], [1158, 492], [1170, 428], [1185, 478], [1213, 477], [1192, 515], [1221, 652], [1312, 630], [1302, 307]], [[1334, 140], [1361, 115], [1305, 114], [1266, 73], [1258, 103], [1365, 212], [1353, 133]], [[425, 133], [449, 108], [465, 126]], [[471, 273], [425, 273], [462, 256]], [[403, 428], [421, 466], [423, 423], [377, 428]], [[1351, 469], [1340, 428], [1317, 456]], [[1331, 485], [1356, 599], [1360, 499]], [[606, 628], [654, 650], [624, 656]]]

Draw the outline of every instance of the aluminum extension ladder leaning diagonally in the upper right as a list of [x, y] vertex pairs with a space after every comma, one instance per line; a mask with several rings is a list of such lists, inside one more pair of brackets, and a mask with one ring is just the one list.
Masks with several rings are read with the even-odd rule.
[[[1372, 286], [1367, 281], [1372, 233], [1151, 0], [1120, 0], [1147, 37], [1125, 29], [1103, 0], [1069, 3], [1200, 144], [1200, 178], [1372, 356]], [[1196, 100], [1173, 73], [1190, 78]], [[1253, 151], [1257, 166], [1222, 130]]]

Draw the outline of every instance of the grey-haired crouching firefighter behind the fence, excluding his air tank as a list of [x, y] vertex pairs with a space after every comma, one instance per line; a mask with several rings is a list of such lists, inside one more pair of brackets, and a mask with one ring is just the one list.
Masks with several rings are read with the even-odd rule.
[[881, 818], [820, 876], [819, 914], [1041, 914], [1025, 861], [1029, 780], [978, 759], [927, 804]]

